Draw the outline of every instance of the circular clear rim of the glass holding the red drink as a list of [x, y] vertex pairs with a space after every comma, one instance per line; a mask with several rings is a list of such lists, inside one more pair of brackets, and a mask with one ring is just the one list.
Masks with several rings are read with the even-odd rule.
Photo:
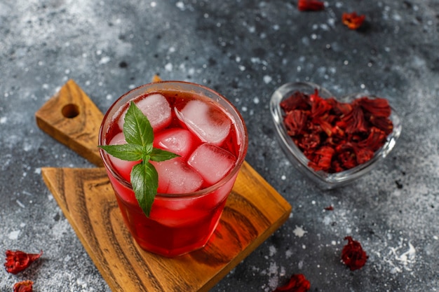
[[[178, 86], [173, 88], [173, 86], [175, 85]], [[185, 90], [184, 88], [181, 87], [185, 87]], [[222, 179], [217, 181], [217, 183], [212, 184], [212, 186], [208, 186], [207, 188], [196, 190], [195, 192], [191, 192], [191, 193], [157, 193], [156, 197], [161, 199], [201, 197], [203, 195], [211, 193], [214, 190], [217, 190], [218, 188], [221, 188], [222, 186], [224, 186], [224, 184], [226, 184], [228, 181], [233, 179], [233, 177], [238, 173], [238, 171], [241, 169], [241, 165], [243, 164], [245, 160], [245, 155], [247, 154], [248, 151], [248, 131], [244, 123], [244, 119], [241, 116], [241, 113], [238, 111], [238, 109], [236, 109], [236, 106], [234, 106], [234, 104], [232, 104], [229, 101], [229, 99], [227, 99], [223, 95], [219, 94], [215, 90], [212, 90], [211, 88], [208, 88], [204, 85], [191, 83], [187, 81], [158, 81], [158, 82], [151, 82], [144, 85], [140, 85], [137, 88], [133, 88], [132, 90], [121, 95], [121, 97], [116, 99], [116, 101], [114, 101], [113, 104], [109, 106], [109, 109], [104, 114], [104, 118], [102, 119], [102, 123], [100, 125], [98, 144], [105, 145], [104, 135], [106, 134], [106, 132], [104, 132], [104, 126], [107, 125], [106, 122], [111, 120], [118, 113], [118, 111], [122, 109], [122, 106], [126, 104], [128, 101], [149, 92], [159, 92], [160, 90], [166, 90], [166, 89], [189, 92], [190, 91], [189, 88], [199, 89], [204, 92], [210, 92], [211, 95], [216, 97], [215, 102], [219, 103], [219, 106], [221, 106], [224, 112], [227, 113], [227, 116], [231, 118], [232, 123], [236, 127], [236, 132], [238, 133], [238, 139], [240, 141], [238, 158], [236, 159], [236, 163], [233, 169], [231, 169], [231, 171], [229, 172], [229, 174], [227, 174], [227, 176], [224, 176]], [[211, 97], [208, 97], [206, 95], [203, 96], [208, 99], [212, 99]], [[224, 106], [224, 104], [220, 103], [219, 101], [224, 102], [224, 104], [227, 104], [227, 106], [229, 106], [229, 109], [227, 109]], [[126, 179], [123, 179], [123, 177], [121, 177], [121, 175], [118, 172], [116, 172], [112, 163], [109, 162], [109, 158], [108, 158], [109, 154], [106, 153], [102, 148], [100, 148], [99, 151], [100, 151], [100, 156], [102, 158], [102, 162], [104, 163], [105, 168], [110, 172], [110, 174], [112, 174], [112, 176], [114, 176], [114, 178], [117, 181], [119, 181], [119, 183], [121, 183], [123, 186], [125, 186], [126, 188], [130, 188], [132, 190], [133, 186], [131, 185], [131, 183], [129, 181], [126, 181]]]

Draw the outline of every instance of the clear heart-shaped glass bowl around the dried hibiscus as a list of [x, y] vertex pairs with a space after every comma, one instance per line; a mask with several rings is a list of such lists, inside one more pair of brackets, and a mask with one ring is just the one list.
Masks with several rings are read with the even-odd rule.
[[[309, 177], [312, 181], [315, 181], [320, 188], [323, 189], [331, 189], [337, 188], [339, 186], [344, 186], [346, 183], [351, 183], [352, 181], [360, 178], [370, 172], [381, 160], [386, 158], [386, 156], [390, 153], [393, 147], [396, 145], [396, 141], [400, 136], [401, 132], [401, 122], [396, 113], [395, 109], [391, 107], [391, 116], [389, 117], [393, 123], [393, 132], [389, 134], [387, 137], [386, 143], [384, 146], [379, 148], [378, 151], [374, 153], [374, 156], [371, 160], [360, 164], [351, 169], [347, 169], [343, 172], [336, 173], [328, 173], [324, 171], [316, 172], [314, 169], [308, 166], [308, 158], [300, 151], [299, 147], [292, 141], [292, 138], [288, 135], [285, 125], [283, 123], [283, 117], [285, 113], [283, 109], [281, 109], [281, 102], [283, 99], [287, 99], [292, 95], [293, 92], [299, 91], [304, 92], [308, 95], [314, 93], [314, 90], [318, 90], [318, 94], [320, 97], [329, 98], [334, 97], [329, 91], [325, 88], [320, 87], [317, 84], [309, 83], [309, 82], [297, 82], [297, 83], [286, 83], [278, 88], [273, 95], [271, 96], [270, 101], [270, 111], [271, 116], [273, 118], [274, 125], [276, 127], [276, 134], [278, 137], [278, 141], [281, 144], [281, 147], [285, 154], [288, 156], [288, 159], [300, 172]], [[358, 99], [360, 97], [367, 96], [368, 98], [377, 98], [373, 95], [366, 95], [364, 93], [356, 93], [352, 95], [346, 95], [344, 97], [336, 99], [339, 102], [352, 102], [354, 99]]]

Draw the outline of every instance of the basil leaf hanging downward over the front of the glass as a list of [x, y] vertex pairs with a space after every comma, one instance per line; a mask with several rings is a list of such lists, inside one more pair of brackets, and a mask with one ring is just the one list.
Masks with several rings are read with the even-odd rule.
[[142, 161], [131, 171], [131, 185], [140, 208], [147, 217], [157, 194], [158, 174], [153, 165]]

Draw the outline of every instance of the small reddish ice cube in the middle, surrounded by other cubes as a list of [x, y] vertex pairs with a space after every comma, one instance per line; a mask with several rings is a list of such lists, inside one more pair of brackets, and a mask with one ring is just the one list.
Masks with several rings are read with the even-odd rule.
[[[171, 128], [156, 134], [154, 147], [178, 154], [186, 159], [193, 151], [195, 140], [198, 140], [189, 130], [182, 128]], [[199, 140], [198, 140], [199, 141]]]

